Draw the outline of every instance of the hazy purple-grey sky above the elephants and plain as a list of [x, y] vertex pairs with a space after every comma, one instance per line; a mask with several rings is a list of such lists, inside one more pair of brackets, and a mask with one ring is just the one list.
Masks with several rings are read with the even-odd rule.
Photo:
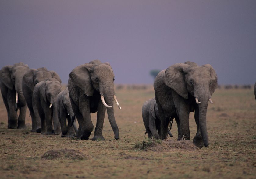
[[153, 83], [151, 69], [211, 64], [219, 84], [256, 81], [255, 0], [0, 0], [0, 67], [70, 71], [109, 62], [116, 83]]

